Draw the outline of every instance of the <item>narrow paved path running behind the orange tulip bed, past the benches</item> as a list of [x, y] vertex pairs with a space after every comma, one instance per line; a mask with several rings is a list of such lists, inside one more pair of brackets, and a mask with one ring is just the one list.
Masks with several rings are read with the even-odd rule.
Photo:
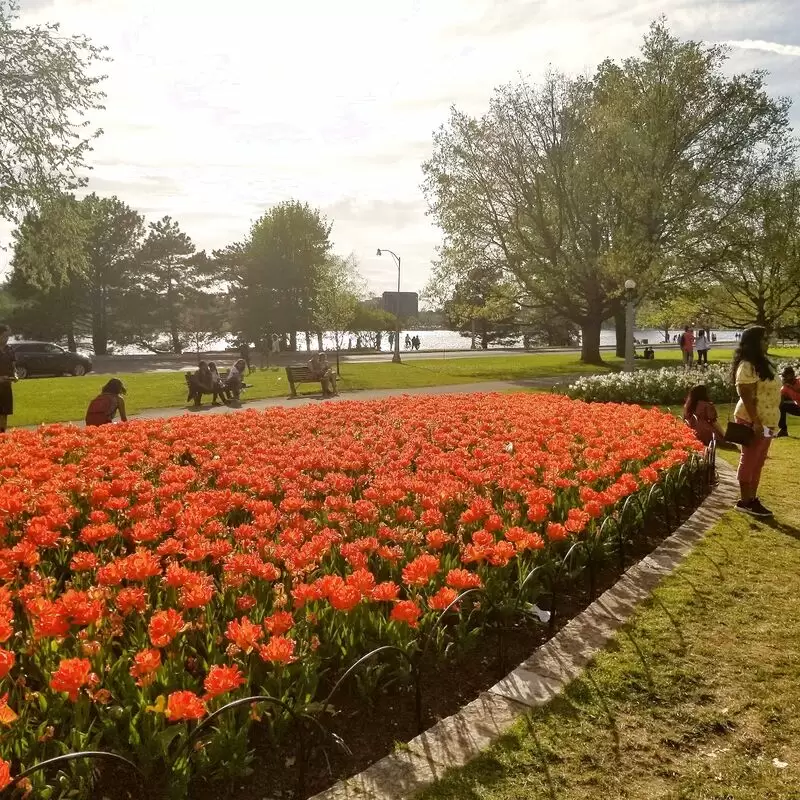
[[[471, 392], [509, 392], [521, 391], [525, 389], [550, 389], [556, 384], [564, 384], [572, 382], [575, 377], [572, 375], [562, 375], [552, 378], [534, 378], [531, 380], [519, 381], [483, 381], [481, 383], [457, 383], [447, 386], [423, 386], [419, 388], [406, 388], [406, 389], [365, 389], [361, 391], [343, 392], [338, 397], [323, 400], [320, 394], [301, 395], [297, 398], [287, 397], [269, 397], [263, 400], [251, 400], [242, 403], [241, 407], [231, 408], [228, 406], [201, 406], [199, 411], [195, 411], [185, 406], [173, 408], [153, 408], [142, 411], [139, 414], [131, 415], [131, 419], [166, 419], [169, 417], [177, 417], [182, 414], [235, 414], [238, 411], [245, 411], [248, 408], [256, 410], [263, 410], [265, 408], [275, 408], [284, 406], [287, 408], [296, 408], [298, 406], [307, 406], [312, 403], [341, 403], [347, 400], [380, 400], [384, 397], [396, 397], [401, 395], [409, 395], [411, 397], [419, 397], [424, 395], [440, 395], [440, 394], [469, 394]], [[83, 422], [74, 422], [74, 425], [83, 425]], [[37, 427], [37, 426], [30, 426]]]

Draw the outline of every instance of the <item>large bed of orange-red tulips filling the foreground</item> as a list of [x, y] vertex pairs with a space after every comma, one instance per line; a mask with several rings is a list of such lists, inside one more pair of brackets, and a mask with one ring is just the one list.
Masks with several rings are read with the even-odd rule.
[[[91, 750], [127, 759], [105, 768], [131, 768], [118, 786], [185, 797], [247, 774], [254, 734], [301, 760], [342, 746], [337, 692], [411, 678], [419, 710], [423, 666], [498, 620], [541, 628], [533, 604], [557, 612], [562, 579], [593, 594], [646, 520], [668, 529], [700, 453], [667, 414], [528, 394], [17, 431], [0, 784]], [[95, 766], [22, 785], [89, 797]]]

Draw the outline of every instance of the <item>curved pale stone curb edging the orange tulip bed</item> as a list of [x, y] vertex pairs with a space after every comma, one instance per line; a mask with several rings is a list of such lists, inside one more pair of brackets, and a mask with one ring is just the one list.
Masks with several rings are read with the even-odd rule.
[[475, 758], [531, 708], [549, 703], [730, 510], [738, 497], [735, 472], [718, 459], [717, 477], [717, 486], [675, 533], [630, 567], [529, 659], [456, 714], [310, 800], [410, 800], [448, 770]]

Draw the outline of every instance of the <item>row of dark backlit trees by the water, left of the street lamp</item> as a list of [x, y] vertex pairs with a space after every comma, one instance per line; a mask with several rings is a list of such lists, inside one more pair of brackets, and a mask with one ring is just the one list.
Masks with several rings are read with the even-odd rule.
[[298, 331], [319, 346], [326, 331], [337, 346], [349, 332], [375, 346], [394, 316], [369, 302], [355, 258], [334, 253], [330, 234], [318, 209], [287, 201], [208, 254], [168, 216], [147, 225], [117, 197], [61, 195], [14, 233], [3, 317], [72, 350], [91, 338], [97, 354], [111, 342], [199, 351], [231, 333], [256, 344], [277, 335], [296, 350]]

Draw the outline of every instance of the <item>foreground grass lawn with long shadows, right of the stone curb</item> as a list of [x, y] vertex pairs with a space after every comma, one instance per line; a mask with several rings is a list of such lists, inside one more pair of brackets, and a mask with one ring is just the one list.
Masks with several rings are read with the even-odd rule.
[[798, 800], [800, 440], [761, 495], [774, 522], [730, 512], [563, 696], [420, 800]]

